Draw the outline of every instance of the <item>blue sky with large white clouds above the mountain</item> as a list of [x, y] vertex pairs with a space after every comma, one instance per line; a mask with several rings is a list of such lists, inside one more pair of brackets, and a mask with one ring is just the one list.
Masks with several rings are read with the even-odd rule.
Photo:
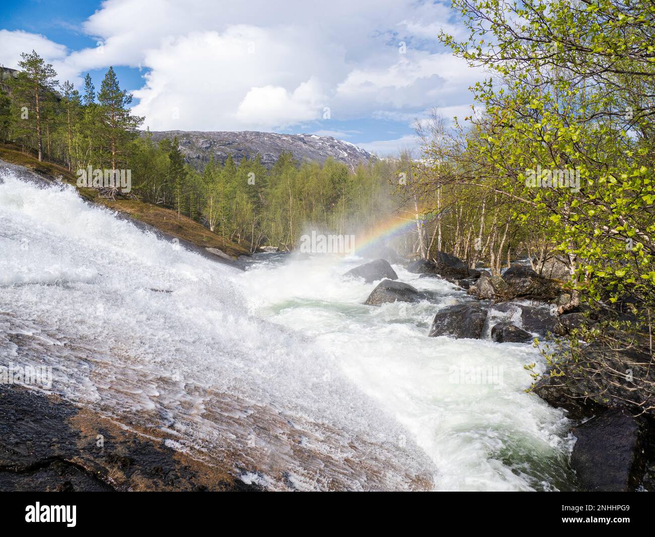
[[0, 6], [0, 65], [36, 50], [81, 89], [109, 66], [150, 130], [333, 136], [380, 156], [417, 148], [431, 108], [470, 113], [481, 73], [440, 44], [447, 2], [27, 0]]

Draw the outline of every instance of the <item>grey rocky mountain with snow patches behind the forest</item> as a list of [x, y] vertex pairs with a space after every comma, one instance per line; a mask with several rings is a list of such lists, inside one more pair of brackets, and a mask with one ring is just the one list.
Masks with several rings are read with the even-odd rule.
[[162, 130], [153, 132], [153, 139], [178, 136], [179, 145], [186, 161], [196, 169], [202, 169], [210, 157], [225, 162], [231, 154], [238, 163], [243, 157], [255, 158], [259, 153], [261, 161], [271, 168], [283, 151], [290, 151], [298, 161], [324, 163], [328, 157], [345, 163], [354, 169], [360, 162], [375, 159], [368, 151], [331, 136], [316, 134], [277, 134], [275, 132], [200, 132], [197, 130]]

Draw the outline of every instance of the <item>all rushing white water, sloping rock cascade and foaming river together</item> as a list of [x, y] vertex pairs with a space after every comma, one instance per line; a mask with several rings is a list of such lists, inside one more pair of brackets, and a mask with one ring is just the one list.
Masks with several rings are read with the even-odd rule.
[[51, 365], [52, 391], [271, 488], [566, 488], [535, 349], [428, 338], [462, 292], [394, 266], [434, 300], [364, 306], [360, 262], [236, 271], [5, 172], [0, 365]]

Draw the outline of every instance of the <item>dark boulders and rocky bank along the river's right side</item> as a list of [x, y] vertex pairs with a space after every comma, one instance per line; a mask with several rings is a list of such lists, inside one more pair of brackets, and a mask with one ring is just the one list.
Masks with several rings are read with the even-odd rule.
[[[377, 260], [350, 270], [366, 281], [389, 278], [390, 266]], [[421, 277], [438, 277], [467, 290], [471, 299], [441, 309], [432, 321], [430, 337], [491, 338], [498, 343], [529, 343], [568, 339], [577, 341], [582, 327], [600, 319], [581, 306], [561, 308], [571, 296], [562, 281], [514, 264], [502, 275], [470, 269], [462, 260], [439, 252], [434, 260], [417, 260], [407, 269]], [[548, 275], [558, 275], [548, 267]], [[397, 281], [384, 279], [365, 304], [416, 302], [421, 292]], [[618, 304], [603, 313], [619, 321], [634, 317], [634, 304]], [[567, 311], [567, 313], [561, 313]], [[632, 313], [631, 313], [632, 312]], [[607, 334], [604, 334], [607, 335]], [[604, 342], [604, 343], [601, 343]], [[610, 342], [608, 344], [607, 342]], [[610, 337], [580, 342], [575, 367], [546, 371], [533, 393], [555, 408], [567, 410], [576, 437], [570, 465], [581, 490], [655, 490], [655, 393], [650, 378], [655, 374], [651, 341], [647, 334], [612, 330]], [[555, 355], [561, 352], [555, 351]], [[569, 358], [572, 360], [573, 358]]]

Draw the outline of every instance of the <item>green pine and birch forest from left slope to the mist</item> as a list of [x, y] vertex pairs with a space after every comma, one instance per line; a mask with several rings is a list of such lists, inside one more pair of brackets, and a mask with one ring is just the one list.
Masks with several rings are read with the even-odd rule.
[[262, 245], [293, 250], [308, 226], [369, 228], [394, 209], [400, 160], [351, 170], [333, 159], [299, 163], [283, 153], [269, 170], [259, 157], [235, 162], [228, 155], [198, 171], [185, 163], [177, 138], [156, 143], [140, 130], [143, 118], [130, 113], [132, 95], [113, 68], [100, 91], [87, 74], [79, 92], [69, 81], [60, 84], [37, 52], [22, 58], [21, 70], [3, 82], [0, 138], [73, 172], [130, 170], [129, 195], [174, 209], [252, 252]]

